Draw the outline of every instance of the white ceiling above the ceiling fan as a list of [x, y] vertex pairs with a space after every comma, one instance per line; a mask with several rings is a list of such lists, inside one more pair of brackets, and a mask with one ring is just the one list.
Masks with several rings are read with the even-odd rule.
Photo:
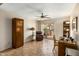
[[56, 18], [70, 15], [75, 5], [74, 3], [4, 3], [0, 8], [24, 18], [33, 18], [42, 12]]

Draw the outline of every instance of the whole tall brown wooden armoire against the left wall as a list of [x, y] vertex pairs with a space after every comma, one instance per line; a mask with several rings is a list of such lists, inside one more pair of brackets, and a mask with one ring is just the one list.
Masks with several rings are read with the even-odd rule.
[[12, 48], [23, 46], [24, 42], [24, 20], [12, 18]]

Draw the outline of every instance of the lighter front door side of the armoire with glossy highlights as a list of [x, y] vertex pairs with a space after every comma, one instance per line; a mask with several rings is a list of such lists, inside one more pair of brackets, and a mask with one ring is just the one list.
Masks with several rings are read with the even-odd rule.
[[16, 46], [20, 47], [23, 45], [23, 21], [16, 21]]

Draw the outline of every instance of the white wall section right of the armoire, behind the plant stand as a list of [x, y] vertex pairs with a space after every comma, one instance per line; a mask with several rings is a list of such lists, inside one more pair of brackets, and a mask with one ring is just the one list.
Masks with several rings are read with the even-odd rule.
[[34, 27], [35, 30], [34, 30], [34, 34], [35, 34], [35, 31], [36, 31], [36, 21], [35, 20], [24, 20], [24, 42], [28, 42], [31, 39], [31, 35], [32, 35], [32, 31], [31, 30], [28, 30], [28, 28], [32, 28]]

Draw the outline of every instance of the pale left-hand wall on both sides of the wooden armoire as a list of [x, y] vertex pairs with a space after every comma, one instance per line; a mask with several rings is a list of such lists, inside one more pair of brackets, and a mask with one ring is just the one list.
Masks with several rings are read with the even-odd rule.
[[[11, 18], [20, 16], [12, 14], [0, 9], [0, 51], [12, 47], [12, 20]], [[21, 17], [23, 18], [23, 17]], [[24, 19], [24, 42], [30, 41], [27, 39], [28, 36], [32, 34], [31, 31], [28, 31], [27, 28], [36, 27], [35, 21]]]

